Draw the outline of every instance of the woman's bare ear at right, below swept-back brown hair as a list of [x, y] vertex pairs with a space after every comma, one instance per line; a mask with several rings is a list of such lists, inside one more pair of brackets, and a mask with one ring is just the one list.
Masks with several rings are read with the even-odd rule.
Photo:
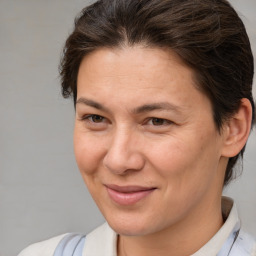
[[224, 124], [222, 156], [236, 156], [246, 144], [251, 130], [252, 106], [243, 98], [238, 111]]

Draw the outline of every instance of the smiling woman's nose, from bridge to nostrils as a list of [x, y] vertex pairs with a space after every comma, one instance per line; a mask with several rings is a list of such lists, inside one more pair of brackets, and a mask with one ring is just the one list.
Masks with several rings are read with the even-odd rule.
[[[141, 141], [141, 143], [143, 143]], [[140, 152], [138, 136], [132, 132], [117, 132], [111, 138], [107, 153], [103, 159], [104, 166], [112, 173], [125, 175], [130, 171], [139, 171], [144, 167], [145, 159]]]

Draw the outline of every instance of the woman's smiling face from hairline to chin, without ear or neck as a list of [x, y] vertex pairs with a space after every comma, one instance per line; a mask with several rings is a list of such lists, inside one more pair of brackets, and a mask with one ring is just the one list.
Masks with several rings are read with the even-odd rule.
[[152, 234], [219, 203], [226, 159], [209, 99], [173, 52], [136, 46], [87, 55], [74, 147], [83, 179], [120, 234]]

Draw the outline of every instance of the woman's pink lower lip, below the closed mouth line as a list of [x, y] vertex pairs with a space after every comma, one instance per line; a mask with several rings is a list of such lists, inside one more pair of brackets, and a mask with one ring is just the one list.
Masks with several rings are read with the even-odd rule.
[[147, 197], [151, 194], [155, 189], [137, 191], [137, 192], [130, 192], [130, 193], [122, 193], [111, 188], [107, 188], [108, 194], [110, 198], [117, 204], [120, 205], [132, 205], [136, 204], [140, 200]]

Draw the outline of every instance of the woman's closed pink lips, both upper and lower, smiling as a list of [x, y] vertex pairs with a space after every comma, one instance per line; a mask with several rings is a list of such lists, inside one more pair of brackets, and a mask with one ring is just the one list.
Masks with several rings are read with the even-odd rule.
[[156, 188], [106, 185], [109, 197], [119, 205], [133, 205], [149, 196]]

